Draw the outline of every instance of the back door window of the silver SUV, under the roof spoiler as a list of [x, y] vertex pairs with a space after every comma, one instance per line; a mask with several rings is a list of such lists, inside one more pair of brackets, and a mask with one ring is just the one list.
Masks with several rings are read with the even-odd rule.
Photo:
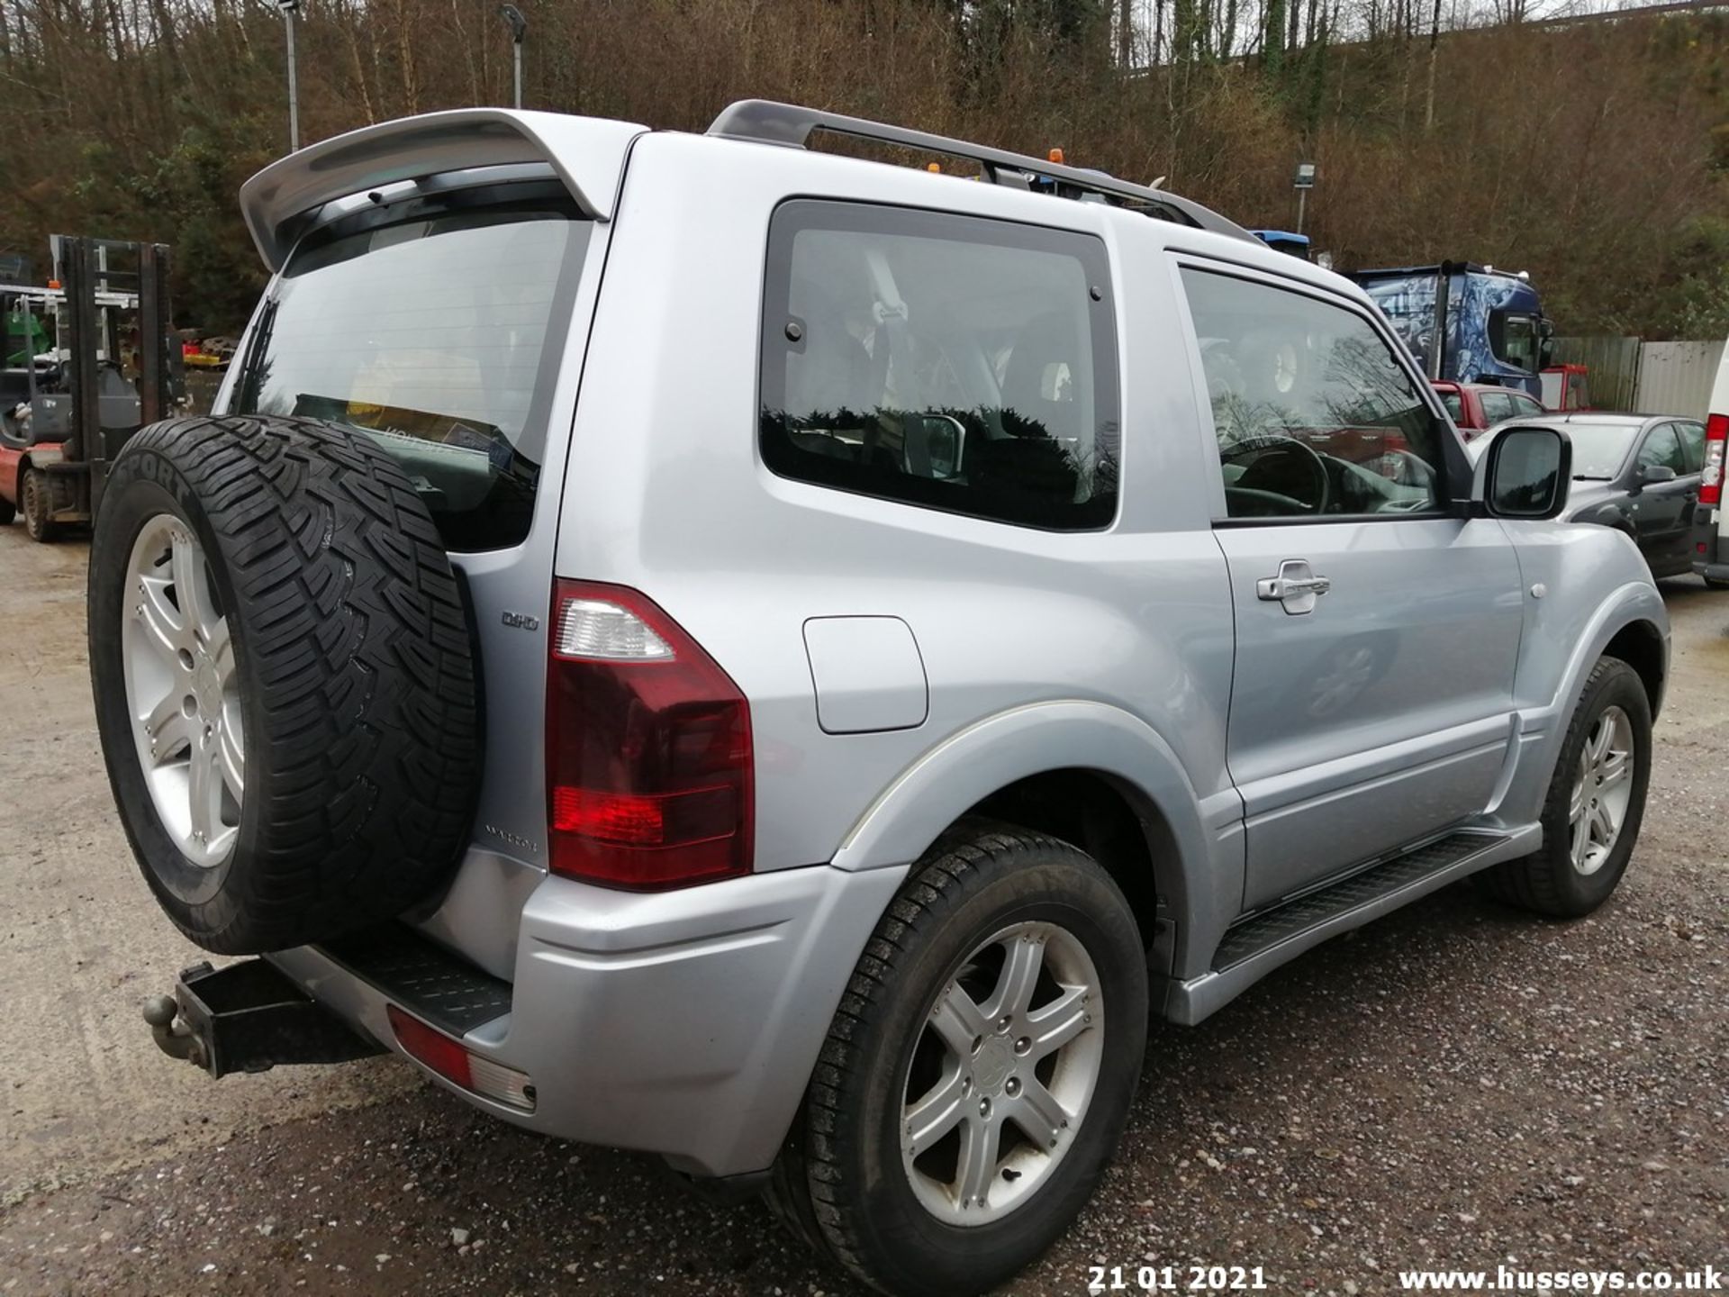
[[446, 546], [515, 545], [591, 227], [552, 194], [406, 214], [361, 213], [296, 249], [230, 410], [356, 427], [401, 462]]

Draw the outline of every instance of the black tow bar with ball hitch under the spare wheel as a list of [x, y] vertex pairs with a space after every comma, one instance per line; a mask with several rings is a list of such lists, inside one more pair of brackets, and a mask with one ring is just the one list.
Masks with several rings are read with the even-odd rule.
[[265, 960], [182, 968], [173, 994], [144, 1003], [144, 1020], [163, 1053], [211, 1076], [384, 1053]]

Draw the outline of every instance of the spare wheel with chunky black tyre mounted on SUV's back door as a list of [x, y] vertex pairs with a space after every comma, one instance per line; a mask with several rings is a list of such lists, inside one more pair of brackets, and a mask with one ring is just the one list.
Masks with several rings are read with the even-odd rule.
[[479, 794], [469, 621], [413, 484], [309, 418], [154, 424], [90, 548], [114, 801], [182, 932], [249, 955], [399, 915]]

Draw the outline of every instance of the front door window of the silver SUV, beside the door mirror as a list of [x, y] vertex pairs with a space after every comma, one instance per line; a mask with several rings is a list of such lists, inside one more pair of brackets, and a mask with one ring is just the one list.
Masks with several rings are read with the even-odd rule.
[[1442, 507], [1442, 429], [1368, 320], [1215, 272], [1183, 284], [1231, 517]]

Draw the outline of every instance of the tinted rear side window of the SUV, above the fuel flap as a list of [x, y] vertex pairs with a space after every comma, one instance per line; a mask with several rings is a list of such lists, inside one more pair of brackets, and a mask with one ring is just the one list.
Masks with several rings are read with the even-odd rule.
[[842, 202], [769, 232], [762, 460], [1050, 529], [1117, 512], [1108, 265], [1088, 235]]

